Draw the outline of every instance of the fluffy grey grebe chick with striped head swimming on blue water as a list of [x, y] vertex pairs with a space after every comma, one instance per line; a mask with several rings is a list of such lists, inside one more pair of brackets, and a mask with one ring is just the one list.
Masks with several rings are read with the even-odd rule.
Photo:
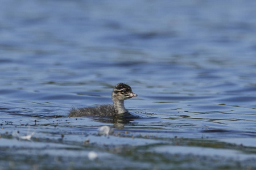
[[125, 83], [118, 83], [112, 91], [113, 104], [98, 105], [97, 107], [71, 109], [68, 117], [82, 117], [82, 116], [114, 116], [122, 117], [131, 115], [124, 105], [124, 100], [137, 97], [133, 93], [131, 87]]

